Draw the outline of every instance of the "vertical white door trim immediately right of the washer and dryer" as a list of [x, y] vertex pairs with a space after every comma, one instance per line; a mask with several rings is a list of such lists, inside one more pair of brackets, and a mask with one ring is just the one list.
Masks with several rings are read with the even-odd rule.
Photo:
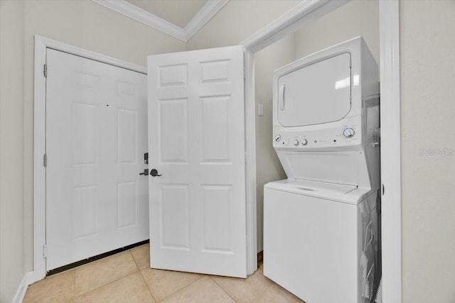
[[401, 150], [400, 150], [400, 4], [379, 1], [382, 299], [402, 302]]

